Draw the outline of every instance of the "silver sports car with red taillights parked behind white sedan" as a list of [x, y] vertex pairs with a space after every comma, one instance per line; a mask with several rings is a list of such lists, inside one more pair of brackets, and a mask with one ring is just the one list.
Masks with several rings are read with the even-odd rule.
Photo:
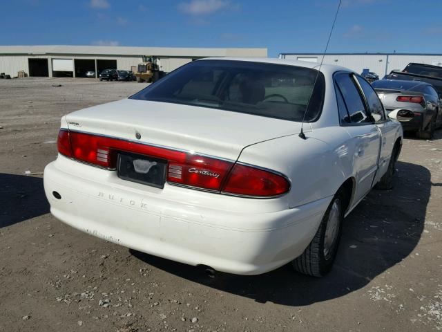
[[404, 131], [415, 131], [419, 138], [432, 138], [434, 129], [442, 124], [442, 105], [431, 84], [421, 81], [380, 80], [372, 83], [385, 111], [408, 109], [414, 118], [402, 122]]

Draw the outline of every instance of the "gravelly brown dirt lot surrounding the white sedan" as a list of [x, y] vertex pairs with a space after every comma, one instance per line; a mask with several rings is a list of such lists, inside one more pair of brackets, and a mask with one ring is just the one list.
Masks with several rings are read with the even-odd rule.
[[372, 191], [345, 220], [322, 279], [287, 266], [209, 279], [52, 217], [41, 172], [59, 118], [141, 87], [0, 80], [0, 331], [442, 330], [442, 131], [405, 139], [394, 190]]

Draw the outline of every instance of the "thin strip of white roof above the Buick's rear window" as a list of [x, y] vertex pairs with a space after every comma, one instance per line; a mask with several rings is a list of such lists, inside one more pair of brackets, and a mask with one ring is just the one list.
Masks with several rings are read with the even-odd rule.
[[[204, 60], [232, 60], [232, 61], [247, 61], [247, 62], [261, 62], [265, 64], [285, 64], [288, 66], [298, 66], [305, 68], [318, 69], [320, 64], [318, 62], [308, 62], [308, 61], [298, 61], [291, 59], [277, 59], [273, 57], [205, 57], [199, 59], [198, 61]], [[349, 68], [344, 68], [341, 66], [335, 66], [334, 64], [322, 64], [320, 66], [320, 71], [322, 73], [335, 73], [336, 71], [348, 71], [354, 73], [354, 71]]]

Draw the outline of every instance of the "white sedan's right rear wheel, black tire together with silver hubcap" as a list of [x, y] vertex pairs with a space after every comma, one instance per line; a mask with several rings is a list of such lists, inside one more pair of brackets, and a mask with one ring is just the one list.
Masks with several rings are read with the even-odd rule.
[[300, 257], [291, 264], [295, 270], [313, 277], [323, 277], [333, 266], [344, 219], [344, 197], [338, 192], [323, 216], [315, 237]]

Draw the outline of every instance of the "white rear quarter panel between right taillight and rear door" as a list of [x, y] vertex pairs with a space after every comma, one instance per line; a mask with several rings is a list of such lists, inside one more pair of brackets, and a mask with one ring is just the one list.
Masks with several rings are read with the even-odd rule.
[[352, 173], [348, 134], [338, 128], [316, 129], [260, 142], [244, 149], [239, 161], [273, 169], [291, 181], [289, 208], [332, 196]]

